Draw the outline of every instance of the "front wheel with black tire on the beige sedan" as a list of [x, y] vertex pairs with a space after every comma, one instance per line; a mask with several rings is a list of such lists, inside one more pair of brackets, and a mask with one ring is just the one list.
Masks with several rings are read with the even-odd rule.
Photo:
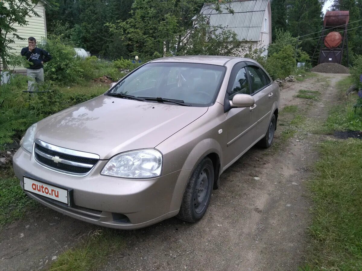
[[214, 167], [210, 158], [204, 158], [192, 173], [182, 199], [177, 218], [195, 223], [209, 206], [214, 185]]

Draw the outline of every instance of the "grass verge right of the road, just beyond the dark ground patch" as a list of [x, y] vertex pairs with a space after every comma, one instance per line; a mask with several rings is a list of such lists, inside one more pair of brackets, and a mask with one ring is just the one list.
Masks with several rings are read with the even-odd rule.
[[347, 77], [337, 83], [340, 90], [340, 103], [329, 111], [329, 117], [321, 128], [321, 133], [332, 134], [334, 131], [362, 130], [362, 115], [354, 113], [353, 105], [358, 99], [357, 94], [346, 96], [346, 90], [352, 85], [352, 78]]

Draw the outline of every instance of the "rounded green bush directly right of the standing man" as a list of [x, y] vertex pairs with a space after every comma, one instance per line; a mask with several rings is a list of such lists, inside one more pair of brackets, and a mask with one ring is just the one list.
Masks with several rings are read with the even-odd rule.
[[62, 84], [74, 84], [81, 81], [83, 70], [81, 60], [76, 57], [74, 48], [65, 45], [60, 38], [47, 39], [39, 43], [52, 56], [45, 64], [44, 78]]

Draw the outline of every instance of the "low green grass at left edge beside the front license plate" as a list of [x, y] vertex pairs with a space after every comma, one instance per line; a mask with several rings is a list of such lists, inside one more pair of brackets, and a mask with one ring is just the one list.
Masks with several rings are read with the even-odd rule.
[[35, 206], [37, 203], [23, 192], [12, 167], [1, 169], [0, 183], [0, 227], [2, 227], [21, 218], [26, 212], [26, 207]]

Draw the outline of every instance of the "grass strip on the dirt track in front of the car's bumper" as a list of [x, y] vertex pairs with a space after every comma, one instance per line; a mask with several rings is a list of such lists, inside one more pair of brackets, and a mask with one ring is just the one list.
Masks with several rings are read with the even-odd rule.
[[111, 229], [98, 229], [90, 233], [83, 244], [60, 254], [48, 270], [100, 270], [107, 258], [123, 246], [125, 241], [120, 234]]

